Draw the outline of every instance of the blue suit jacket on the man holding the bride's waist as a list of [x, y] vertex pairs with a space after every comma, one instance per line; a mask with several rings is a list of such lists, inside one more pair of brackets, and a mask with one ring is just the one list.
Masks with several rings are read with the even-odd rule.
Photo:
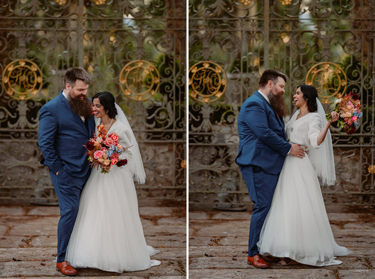
[[236, 163], [258, 166], [265, 173], [278, 174], [291, 149], [286, 141], [284, 120], [256, 91], [243, 103], [238, 115], [240, 145]]

